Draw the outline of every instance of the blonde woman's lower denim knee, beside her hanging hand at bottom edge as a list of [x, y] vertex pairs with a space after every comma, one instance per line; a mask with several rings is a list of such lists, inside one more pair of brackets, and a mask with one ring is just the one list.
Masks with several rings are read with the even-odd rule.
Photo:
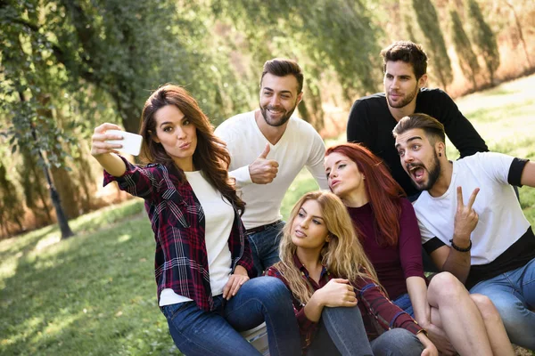
[[375, 356], [420, 356], [424, 351], [416, 335], [404, 328], [391, 328], [370, 344]]

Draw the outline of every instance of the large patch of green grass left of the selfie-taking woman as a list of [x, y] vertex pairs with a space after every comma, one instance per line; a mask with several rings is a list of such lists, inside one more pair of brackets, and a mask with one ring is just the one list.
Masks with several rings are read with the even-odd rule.
[[[0, 244], [0, 354], [180, 354], [156, 303], [154, 240], [131, 200]], [[119, 223], [118, 223], [119, 221]]]

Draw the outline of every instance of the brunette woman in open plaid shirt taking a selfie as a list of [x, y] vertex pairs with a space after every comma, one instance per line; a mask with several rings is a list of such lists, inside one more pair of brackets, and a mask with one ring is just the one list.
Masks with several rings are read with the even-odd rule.
[[295, 355], [299, 332], [284, 284], [256, 278], [223, 142], [193, 97], [165, 85], [145, 102], [140, 134], [146, 166], [118, 155], [120, 139], [95, 128], [91, 153], [104, 185], [144, 198], [156, 241], [158, 303], [187, 355], [259, 354], [238, 331], [267, 323], [269, 352]]

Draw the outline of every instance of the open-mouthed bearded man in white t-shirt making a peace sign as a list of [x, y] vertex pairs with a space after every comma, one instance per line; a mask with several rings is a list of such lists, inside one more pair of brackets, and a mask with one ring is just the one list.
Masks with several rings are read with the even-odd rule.
[[511, 342], [535, 350], [535, 236], [511, 186], [535, 187], [535, 163], [495, 152], [450, 162], [444, 126], [425, 114], [403, 117], [393, 134], [424, 190], [413, 205], [433, 262], [489, 296]]

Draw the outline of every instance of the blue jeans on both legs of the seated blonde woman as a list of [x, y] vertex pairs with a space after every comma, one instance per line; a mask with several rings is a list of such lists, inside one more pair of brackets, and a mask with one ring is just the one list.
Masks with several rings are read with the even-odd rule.
[[393, 328], [368, 342], [358, 306], [324, 308], [307, 355], [420, 356], [424, 346], [404, 328]]

